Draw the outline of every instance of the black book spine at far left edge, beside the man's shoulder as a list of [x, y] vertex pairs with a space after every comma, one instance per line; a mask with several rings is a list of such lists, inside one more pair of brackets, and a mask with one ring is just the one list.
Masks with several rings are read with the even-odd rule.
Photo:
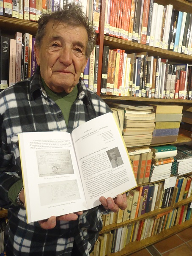
[[1, 36], [0, 40], [0, 91], [8, 87], [10, 39]]

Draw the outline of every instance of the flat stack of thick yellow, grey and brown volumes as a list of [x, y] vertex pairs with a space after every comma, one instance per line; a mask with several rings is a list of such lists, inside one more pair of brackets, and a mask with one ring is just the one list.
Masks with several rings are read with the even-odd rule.
[[153, 105], [155, 129], [151, 144], [177, 141], [182, 109], [178, 105]]

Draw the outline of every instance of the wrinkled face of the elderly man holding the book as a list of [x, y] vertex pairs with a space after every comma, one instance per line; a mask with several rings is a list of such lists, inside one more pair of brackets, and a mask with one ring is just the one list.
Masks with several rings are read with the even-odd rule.
[[41, 47], [35, 50], [41, 77], [52, 91], [70, 93], [77, 85], [87, 63], [87, 43], [85, 28], [47, 23]]

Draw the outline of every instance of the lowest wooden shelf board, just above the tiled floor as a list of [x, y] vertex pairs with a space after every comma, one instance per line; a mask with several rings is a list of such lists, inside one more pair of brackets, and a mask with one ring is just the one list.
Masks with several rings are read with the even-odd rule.
[[172, 228], [164, 230], [164, 231], [160, 232], [159, 234], [154, 235], [153, 237], [148, 237], [141, 241], [129, 242], [129, 244], [126, 245], [126, 247], [123, 248], [123, 250], [121, 250], [120, 252], [117, 252], [117, 253], [110, 253], [110, 256], [130, 255], [131, 253], [141, 250], [148, 245], [152, 245], [156, 242], [159, 242], [159, 241], [165, 239], [165, 237], [170, 237], [173, 234], [176, 234], [190, 226], [192, 226], [192, 220], [187, 220], [184, 223], [181, 223], [180, 225], [176, 225], [176, 226], [173, 226]]

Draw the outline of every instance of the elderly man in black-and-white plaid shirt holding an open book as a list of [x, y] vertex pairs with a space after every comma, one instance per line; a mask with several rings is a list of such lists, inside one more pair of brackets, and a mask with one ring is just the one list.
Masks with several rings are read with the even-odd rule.
[[91, 210], [26, 223], [18, 134], [72, 132], [110, 112], [80, 78], [95, 43], [93, 25], [80, 6], [43, 14], [35, 74], [0, 94], [0, 206], [8, 209], [7, 256], [87, 256], [102, 228], [101, 212], [126, 208], [125, 194], [114, 200], [101, 197], [101, 206]]

